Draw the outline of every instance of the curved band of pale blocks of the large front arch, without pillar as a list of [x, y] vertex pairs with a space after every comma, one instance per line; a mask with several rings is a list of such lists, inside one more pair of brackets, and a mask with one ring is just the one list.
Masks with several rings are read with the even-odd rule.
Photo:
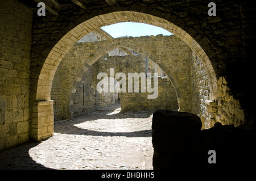
[[[141, 12], [133, 12], [136, 14], [137, 17], [141, 17], [141, 19], [145, 19], [143, 23], [151, 24], [154, 26], [162, 27], [167, 31], [174, 33], [175, 36], [179, 37], [179, 39], [183, 40], [195, 53], [196, 55], [202, 60], [205, 68], [207, 69], [211, 82], [212, 82], [212, 91], [216, 91], [216, 83], [217, 78], [216, 74], [213, 70], [213, 66], [201, 48], [201, 46], [190, 36], [187, 32], [182, 30], [180, 27], [175, 26], [175, 24], [168, 22], [162, 18], [158, 18], [156, 16], [143, 14]], [[79, 24], [71, 31], [69, 31], [66, 35], [64, 35], [57, 44], [51, 49], [49, 52], [44, 64], [42, 66], [42, 70], [40, 71], [39, 79], [38, 79], [38, 87], [36, 90], [36, 100], [50, 100], [51, 99], [51, 85], [52, 80], [57, 66], [59, 65], [62, 58], [68, 52], [68, 50], [74, 45], [81, 37], [85, 36], [87, 33], [96, 30], [102, 26], [106, 26], [109, 24], [114, 24], [118, 22], [140, 22], [139, 19], [129, 19], [129, 15], [131, 15], [130, 11], [123, 11], [123, 12], [112, 12], [105, 15], [96, 16], [92, 19], [86, 20], [84, 23]], [[119, 16], [119, 19], [114, 18], [108, 20], [107, 18], [112, 16]], [[143, 17], [143, 18], [142, 18]], [[107, 22], [102, 22], [101, 19], [105, 19]], [[90, 26], [90, 24], [97, 24], [97, 26]], [[214, 96], [213, 96], [214, 97]]]

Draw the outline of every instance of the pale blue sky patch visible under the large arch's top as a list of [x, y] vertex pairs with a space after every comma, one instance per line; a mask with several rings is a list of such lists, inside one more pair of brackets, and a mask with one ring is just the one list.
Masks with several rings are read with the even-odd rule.
[[147, 36], [147, 35], [172, 35], [171, 32], [163, 28], [152, 26], [145, 23], [123, 22], [116, 23], [109, 26], [101, 27], [102, 30], [109, 33], [114, 38], [120, 36]]

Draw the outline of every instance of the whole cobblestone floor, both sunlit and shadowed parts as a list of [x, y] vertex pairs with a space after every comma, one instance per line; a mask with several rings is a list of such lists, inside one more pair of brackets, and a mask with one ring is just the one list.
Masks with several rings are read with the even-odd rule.
[[119, 107], [56, 121], [53, 137], [0, 151], [0, 169], [153, 169], [152, 112]]

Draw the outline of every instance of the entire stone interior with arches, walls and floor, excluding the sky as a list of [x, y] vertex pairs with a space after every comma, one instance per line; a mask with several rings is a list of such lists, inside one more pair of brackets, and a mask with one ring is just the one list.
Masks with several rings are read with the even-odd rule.
[[[212, 2], [215, 15], [209, 15], [208, 1], [197, 0], [0, 0], [0, 169], [253, 164], [255, 2]], [[121, 22], [171, 35], [113, 37], [102, 29]], [[97, 75], [110, 77], [112, 70], [115, 85], [117, 73], [156, 78], [157, 98], [148, 99], [151, 93], [142, 87], [98, 91]], [[127, 148], [118, 152], [120, 145], [101, 137], [127, 142]], [[72, 145], [61, 146], [65, 141]], [[106, 156], [108, 149], [118, 158]], [[210, 150], [216, 162], [209, 161]], [[62, 166], [47, 157], [51, 151]], [[125, 163], [113, 162], [118, 159]]]

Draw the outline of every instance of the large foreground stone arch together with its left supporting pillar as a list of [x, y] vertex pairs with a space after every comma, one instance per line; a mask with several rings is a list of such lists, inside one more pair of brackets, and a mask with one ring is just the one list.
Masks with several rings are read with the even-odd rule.
[[[146, 11], [148, 10], [150, 9], [147, 9]], [[167, 31], [174, 33], [174, 35], [183, 40], [203, 62], [209, 73], [211, 91], [216, 92], [217, 78], [213, 66], [207, 56], [207, 53], [205, 53], [200, 44], [197, 43], [195, 39], [193, 39], [192, 36], [196, 36], [195, 33], [193, 33], [192, 36], [189, 35], [189, 32], [193, 32], [190, 29], [188, 29], [188, 32], [186, 32], [179, 26], [176, 26], [174, 23], [166, 20], [168, 18], [163, 19], [159, 18], [158, 16], [150, 15], [150, 11], [148, 11], [148, 14], [135, 11], [119, 11], [92, 16], [93, 18], [85, 20], [77, 26], [72, 24], [72, 30], [62, 36], [52, 48], [48, 47], [42, 52], [42, 56], [38, 57], [38, 64], [42, 65], [42, 68], [40, 68], [40, 66], [36, 66], [35, 68], [32, 63], [32, 67], [37, 70], [32, 71], [31, 73], [31, 90], [32, 92], [36, 92], [36, 94], [31, 93], [31, 104], [33, 106], [30, 128], [31, 137], [35, 140], [42, 140], [53, 135], [53, 102], [51, 101], [51, 86], [55, 71], [57, 66], [60, 64], [60, 61], [72, 47], [72, 45], [81, 39], [81, 37], [97, 28], [109, 24], [118, 22], [142, 22], [162, 27]], [[81, 19], [79, 19], [79, 21], [81, 21]], [[61, 33], [59, 36], [61, 36]], [[204, 46], [207, 47], [208, 44], [204, 43]], [[209, 51], [211, 51], [211, 49]], [[40, 74], [38, 75], [37, 73], [39, 72]], [[38, 77], [38, 79], [36, 77]], [[214, 98], [214, 94], [212, 94], [212, 98]]]

